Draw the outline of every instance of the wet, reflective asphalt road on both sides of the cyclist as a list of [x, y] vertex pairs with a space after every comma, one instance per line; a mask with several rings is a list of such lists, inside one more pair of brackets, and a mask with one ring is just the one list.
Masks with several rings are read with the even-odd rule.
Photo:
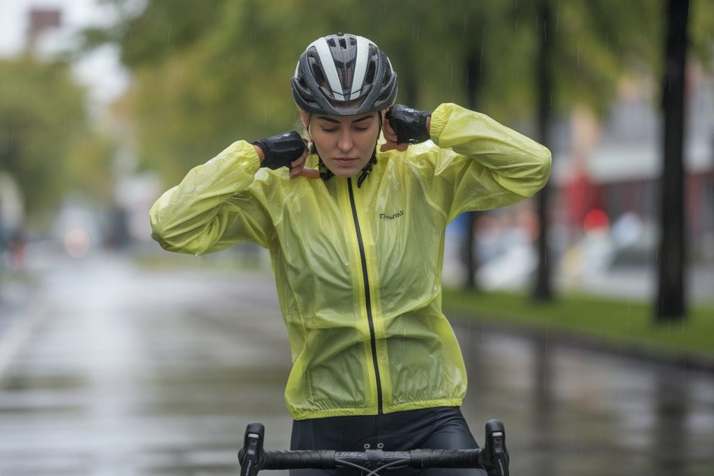
[[[196, 258], [198, 259], [198, 258]], [[0, 475], [234, 475], [247, 422], [288, 447], [269, 273], [44, 273], [0, 338]], [[714, 375], [459, 324], [463, 412], [506, 422], [513, 475], [714, 474]]]

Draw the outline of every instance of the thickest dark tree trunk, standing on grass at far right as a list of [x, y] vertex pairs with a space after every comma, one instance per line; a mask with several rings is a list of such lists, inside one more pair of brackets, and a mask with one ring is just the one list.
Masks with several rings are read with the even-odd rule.
[[662, 84], [664, 167], [661, 178], [659, 286], [655, 303], [655, 320], [658, 322], [683, 320], [686, 313], [683, 144], [688, 16], [689, 0], [669, 0]]

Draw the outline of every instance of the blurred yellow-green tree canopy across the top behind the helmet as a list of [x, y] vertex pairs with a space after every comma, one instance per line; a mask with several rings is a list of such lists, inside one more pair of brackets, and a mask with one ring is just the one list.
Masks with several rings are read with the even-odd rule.
[[[600, 113], [623, 75], [658, 77], [661, 0], [547, 1], [555, 21], [556, 112], [585, 104]], [[128, 106], [142, 163], [174, 183], [231, 141], [292, 128], [290, 76], [305, 46], [325, 34], [376, 41], [398, 72], [401, 103], [466, 103], [471, 59], [481, 111], [505, 123], [531, 118], [543, 31], [536, 11], [533, 2], [518, 0], [211, 0], [200, 9], [149, 0], [111, 29], [88, 33], [90, 42], [121, 46], [135, 79]], [[703, 50], [709, 33], [696, 29], [705, 36], [697, 43]]]

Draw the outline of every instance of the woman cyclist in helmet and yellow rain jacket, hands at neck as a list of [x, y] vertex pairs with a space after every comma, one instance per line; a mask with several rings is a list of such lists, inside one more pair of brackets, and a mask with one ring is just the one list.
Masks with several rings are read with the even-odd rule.
[[151, 208], [154, 238], [181, 253], [269, 250], [293, 450], [477, 447], [441, 310], [444, 232], [533, 196], [550, 152], [456, 104], [394, 106], [396, 74], [361, 36], [313, 41], [291, 83], [305, 139], [236, 141], [193, 168]]

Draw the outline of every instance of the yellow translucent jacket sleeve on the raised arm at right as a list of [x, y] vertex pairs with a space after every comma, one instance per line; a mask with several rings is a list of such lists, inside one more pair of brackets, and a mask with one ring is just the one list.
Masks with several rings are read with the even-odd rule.
[[421, 171], [428, 196], [448, 221], [464, 211], [511, 205], [535, 195], [550, 176], [550, 151], [485, 114], [452, 103], [432, 113], [438, 148]]

